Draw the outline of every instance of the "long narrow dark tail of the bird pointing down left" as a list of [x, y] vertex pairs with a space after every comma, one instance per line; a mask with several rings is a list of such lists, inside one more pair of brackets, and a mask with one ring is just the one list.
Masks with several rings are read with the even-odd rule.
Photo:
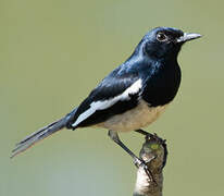
[[43, 138], [65, 127], [70, 118], [71, 113], [27, 136], [25, 139], [15, 145], [15, 148], [12, 150], [11, 158], [25, 151], [26, 149], [35, 145], [37, 142], [42, 140]]

